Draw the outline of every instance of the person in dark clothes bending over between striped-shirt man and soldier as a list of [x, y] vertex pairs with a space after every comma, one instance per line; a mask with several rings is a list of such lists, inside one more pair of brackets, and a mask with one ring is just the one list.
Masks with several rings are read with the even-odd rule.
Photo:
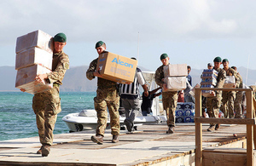
[[153, 104], [153, 100], [155, 97], [160, 96], [160, 94], [162, 94], [161, 92], [157, 93], [156, 92], [161, 89], [161, 87], [148, 91], [148, 96], [145, 96], [145, 93], [143, 92], [143, 103], [142, 103], [142, 112], [143, 112], [143, 116], [147, 116], [148, 114], [150, 114], [152, 112], [152, 104]]

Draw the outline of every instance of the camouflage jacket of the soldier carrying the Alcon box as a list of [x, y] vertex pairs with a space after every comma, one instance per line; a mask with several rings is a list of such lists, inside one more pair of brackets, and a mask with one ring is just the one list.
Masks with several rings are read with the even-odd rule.
[[[93, 75], [93, 72], [96, 71], [97, 62], [98, 62], [98, 58], [96, 58], [95, 60], [92, 60], [90, 62], [90, 66], [86, 72], [86, 77], [89, 80], [92, 80], [93, 78], [95, 78], [95, 76]], [[117, 83], [107, 80], [107, 79], [104, 79], [102, 77], [98, 77], [97, 86], [100, 89], [108, 89], [111, 87], [116, 87]]]

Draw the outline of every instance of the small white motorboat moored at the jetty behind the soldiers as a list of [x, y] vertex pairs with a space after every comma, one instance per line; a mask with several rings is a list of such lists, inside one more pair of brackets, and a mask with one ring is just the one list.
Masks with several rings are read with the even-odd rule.
[[[154, 83], [154, 72], [143, 72], [143, 76], [149, 83], [149, 89], [156, 89], [156, 83]], [[139, 116], [134, 120], [135, 126], [143, 123], [166, 123], [166, 115], [162, 112], [162, 104], [159, 102], [159, 98], [155, 97], [152, 105], [152, 116]], [[96, 129], [97, 116], [95, 110], [83, 110], [77, 113], [70, 113], [62, 118], [67, 124], [70, 132], [83, 131]], [[124, 129], [125, 117], [119, 117], [121, 129]], [[110, 127], [110, 119], [108, 117], [107, 128]], [[136, 129], [136, 128], [135, 128]]]

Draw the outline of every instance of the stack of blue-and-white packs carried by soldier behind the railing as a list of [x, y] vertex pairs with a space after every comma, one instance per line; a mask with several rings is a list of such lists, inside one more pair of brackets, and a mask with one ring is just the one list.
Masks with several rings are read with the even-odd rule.
[[[218, 72], [214, 69], [204, 69], [201, 75], [201, 88], [214, 88], [217, 83]], [[213, 97], [212, 90], [202, 90], [205, 97]]]

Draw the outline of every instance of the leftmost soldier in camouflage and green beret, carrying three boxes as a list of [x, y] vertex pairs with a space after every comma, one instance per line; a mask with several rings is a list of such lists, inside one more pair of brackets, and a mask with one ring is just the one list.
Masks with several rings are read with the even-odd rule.
[[[61, 112], [60, 85], [69, 68], [69, 58], [62, 51], [66, 42], [67, 37], [64, 33], [55, 35], [52, 72], [39, 74], [35, 78], [38, 83], [44, 80], [48, 83], [53, 83], [53, 89], [34, 94], [32, 100], [32, 108], [37, 119], [39, 140], [42, 144], [37, 153], [42, 154], [43, 157], [47, 157], [49, 154], [49, 146], [53, 143], [53, 130], [55, 128], [57, 114]], [[25, 91], [25, 89], [20, 90]]]

